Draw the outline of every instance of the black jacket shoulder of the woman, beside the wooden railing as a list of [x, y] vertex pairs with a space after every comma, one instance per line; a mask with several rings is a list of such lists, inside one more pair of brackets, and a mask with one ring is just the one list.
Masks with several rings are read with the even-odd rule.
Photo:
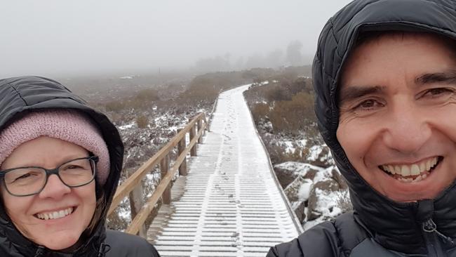
[[111, 249], [106, 257], [160, 257], [155, 247], [146, 239], [116, 230], [107, 230], [106, 243]]

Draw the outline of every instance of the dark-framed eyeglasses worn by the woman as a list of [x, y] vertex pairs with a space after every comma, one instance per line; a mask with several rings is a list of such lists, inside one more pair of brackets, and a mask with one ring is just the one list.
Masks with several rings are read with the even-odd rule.
[[95, 178], [97, 162], [96, 156], [83, 157], [60, 164], [55, 169], [37, 166], [6, 169], [0, 171], [0, 177], [8, 193], [25, 197], [41, 192], [52, 174], [57, 175], [68, 187], [87, 185]]

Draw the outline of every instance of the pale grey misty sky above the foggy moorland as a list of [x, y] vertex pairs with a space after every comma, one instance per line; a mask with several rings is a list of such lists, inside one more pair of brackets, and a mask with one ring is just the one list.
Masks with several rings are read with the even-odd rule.
[[0, 8], [0, 78], [155, 72], [201, 58], [241, 62], [302, 42], [348, 0], [25, 0]]

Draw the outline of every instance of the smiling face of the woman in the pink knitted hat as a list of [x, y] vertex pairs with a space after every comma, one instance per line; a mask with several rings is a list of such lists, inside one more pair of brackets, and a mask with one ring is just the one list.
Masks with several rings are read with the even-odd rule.
[[[20, 166], [54, 169], [79, 157], [88, 157], [88, 151], [79, 145], [43, 136], [17, 147], [5, 159], [1, 170]], [[1, 185], [1, 196], [8, 216], [22, 235], [53, 250], [66, 249], [78, 241], [96, 205], [95, 180], [71, 188], [55, 175], [49, 176], [48, 183], [37, 195], [15, 197]], [[60, 218], [49, 218], [50, 213], [59, 213]]]

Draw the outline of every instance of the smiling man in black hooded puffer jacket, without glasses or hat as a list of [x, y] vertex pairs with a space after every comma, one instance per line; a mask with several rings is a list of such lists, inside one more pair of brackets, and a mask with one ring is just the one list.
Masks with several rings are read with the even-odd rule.
[[268, 256], [456, 256], [456, 1], [351, 2], [313, 73], [354, 212]]

